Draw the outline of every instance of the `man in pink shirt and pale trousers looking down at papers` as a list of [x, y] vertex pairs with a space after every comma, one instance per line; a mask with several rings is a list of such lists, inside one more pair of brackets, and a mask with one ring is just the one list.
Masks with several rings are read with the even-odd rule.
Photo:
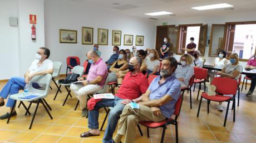
[[87, 58], [89, 59], [89, 63], [91, 63], [87, 79], [85, 80], [81, 77], [78, 80], [85, 81], [70, 85], [70, 90], [76, 94], [76, 97], [80, 101], [83, 117], [88, 116], [88, 110], [86, 108], [87, 95], [102, 90], [107, 77], [107, 65], [94, 50], [90, 50], [87, 53]]

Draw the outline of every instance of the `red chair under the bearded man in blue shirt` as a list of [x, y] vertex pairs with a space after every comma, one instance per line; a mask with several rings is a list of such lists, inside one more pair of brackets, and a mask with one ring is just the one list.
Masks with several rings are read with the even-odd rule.
[[[149, 137], [149, 128], [163, 127], [163, 132], [162, 132], [162, 137], [161, 137], [161, 143], [163, 143], [167, 125], [173, 124], [173, 125], [175, 125], [176, 142], [178, 142], [179, 140], [178, 140], [178, 121], [177, 121], [177, 119], [178, 119], [178, 116], [180, 115], [180, 109], [181, 109], [182, 102], [183, 102], [183, 95], [180, 95], [178, 101], [175, 104], [175, 111], [173, 113], [173, 115], [175, 115], [175, 119], [169, 118], [169, 119], [166, 119], [166, 120], [160, 121], [160, 122], [152, 122], [152, 121], [139, 122], [139, 124], [147, 127], [147, 137]], [[138, 125], [138, 128], [139, 128], [141, 136], [143, 136], [139, 125]]]

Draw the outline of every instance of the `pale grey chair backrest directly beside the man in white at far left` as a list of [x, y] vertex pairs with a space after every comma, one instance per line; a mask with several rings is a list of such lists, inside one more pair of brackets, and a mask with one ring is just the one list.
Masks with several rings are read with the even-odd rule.
[[[48, 95], [49, 88], [50, 88], [51, 79], [52, 79], [51, 74], [34, 76], [30, 81], [31, 84], [29, 84], [28, 92], [32, 93], [32, 94], [36, 93], [36, 94], [40, 95], [41, 98], [46, 98], [46, 96]], [[44, 90], [33, 88], [32, 83], [39, 83], [39, 84], [45, 85], [45, 86], [43, 86]]]

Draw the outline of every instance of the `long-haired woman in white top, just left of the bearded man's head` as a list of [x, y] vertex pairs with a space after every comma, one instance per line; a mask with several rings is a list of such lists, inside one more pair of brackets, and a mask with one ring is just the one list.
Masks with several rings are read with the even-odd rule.
[[157, 50], [151, 49], [150, 53], [148, 55], [146, 66], [147, 66], [147, 75], [160, 75], [159, 74], [159, 67], [160, 67], [160, 61], [159, 61], [159, 55]]

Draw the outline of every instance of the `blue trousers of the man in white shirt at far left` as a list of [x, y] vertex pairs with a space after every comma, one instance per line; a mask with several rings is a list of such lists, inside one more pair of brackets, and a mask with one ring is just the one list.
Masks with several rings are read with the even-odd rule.
[[[0, 92], [1, 98], [7, 99], [8, 95], [17, 94], [19, 90], [23, 89], [26, 85], [24, 78], [11, 78], [8, 83], [4, 85], [2, 91]], [[8, 98], [7, 107], [12, 107], [14, 104], [14, 100]]]

